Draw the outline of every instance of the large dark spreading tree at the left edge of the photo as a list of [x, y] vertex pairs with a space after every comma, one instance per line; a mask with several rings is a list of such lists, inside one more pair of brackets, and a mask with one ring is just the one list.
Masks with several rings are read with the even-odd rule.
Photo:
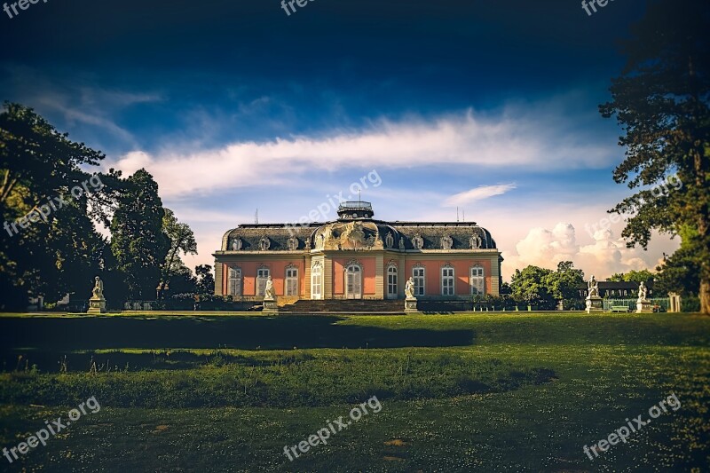
[[103, 265], [106, 241], [92, 220], [106, 222], [120, 172], [83, 170], [105, 156], [67, 137], [31, 108], [4, 103], [0, 308], [24, 308], [28, 296], [43, 296], [47, 302], [67, 293], [88, 298], [93, 276]]

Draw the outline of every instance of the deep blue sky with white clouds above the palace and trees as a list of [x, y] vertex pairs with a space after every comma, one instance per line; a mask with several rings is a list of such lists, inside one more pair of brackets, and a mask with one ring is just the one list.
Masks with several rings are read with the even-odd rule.
[[104, 152], [101, 170], [147, 169], [195, 233], [189, 266], [257, 211], [328, 220], [359, 195], [383, 220], [484, 226], [506, 280], [563, 260], [604, 279], [679, 246], [626, 248], [605, 220], [632, 191], [598, 106], [642, 0], [301, 1], [11, 2], [0, 98]]

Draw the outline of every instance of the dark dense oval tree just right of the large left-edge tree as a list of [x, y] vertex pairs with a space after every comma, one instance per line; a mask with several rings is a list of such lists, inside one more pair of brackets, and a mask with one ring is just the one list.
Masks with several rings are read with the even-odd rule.
[[170, 249], [158, 184], [146, 169], [126, 179], [111, 221], [111, 251], [132, 299], [153, 299]]

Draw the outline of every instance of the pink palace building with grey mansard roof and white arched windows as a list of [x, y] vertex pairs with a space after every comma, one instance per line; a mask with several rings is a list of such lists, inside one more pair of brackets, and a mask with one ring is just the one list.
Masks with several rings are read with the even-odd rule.
[[272, 278], [279, 304], [302, 299], [419, 300], [497, 296], [501, 252], [473, 222], [383, 222], [369, 202], [343, 202], [338, 218], [304, 225], [239, 225], [215, 256], [215, 294], [262, 301]]

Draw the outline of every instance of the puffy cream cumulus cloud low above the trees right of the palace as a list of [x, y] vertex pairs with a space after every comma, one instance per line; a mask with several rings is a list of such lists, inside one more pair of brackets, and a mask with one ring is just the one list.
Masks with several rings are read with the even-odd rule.
[[586, 275], [605, 279], [614, 272], [652, 270], [658, 263], [657, 258], [642, 248], [627, 248], [626, 241], [615, 238], [611, 230], [597, 231], [594, 240], [590, 245], [580, 245], [574, 226], [566, 223], [555, 225], [551, 231], [533, 228], [517, 242], [515, 252], [503, 251], [503, 276], [509, 279], [516, 269], [528, 264], [556, 269], [560, 261], [572, 261]]

